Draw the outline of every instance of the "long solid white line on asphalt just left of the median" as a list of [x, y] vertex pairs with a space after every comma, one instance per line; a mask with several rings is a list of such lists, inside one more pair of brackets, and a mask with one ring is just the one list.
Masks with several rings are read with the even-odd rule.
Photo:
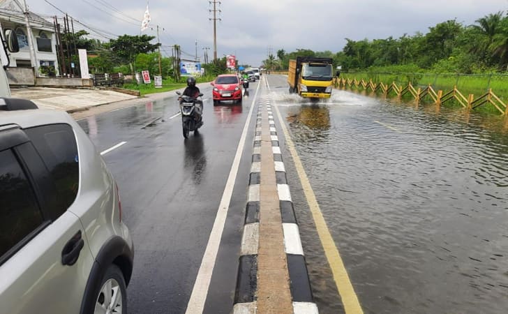
[[203, 313], [204, 302], [207, 301], [207, 294], [208, 288], [210, 286], [211, 274], [214, 272], [218, 247], [221, 244], [221, 237], [227, 218], [227, 209], [229, 209], [230, 207], [231, 197], [234, 188], [234, 181], [237, 178], [241, 154], [244, 151], [245, 140], [248, 133], [248, 126], [251, 123], [251, 117], [255, 107], [257, 92], [259, 91], [259, 89], [260, 84], [257, 84], [257, 89], [251, 104], [251, 110], [249, 110], [248, 112], [244, 130], [241, 132], [240, 142], [238, 143], [237, 148], [237, 154], [234, 155], [230, 175], [229, 177], [227, 177], [223, 197], [221, 199], [221, 203], [218, 206], [217, 216], [214, 221], [214, 227], [211, 228], [207, 248], [204, 251], [203, 259], [201, 261], [200, 270], [197, 271], [197, 277], [194, 283], [193, 292], [191, 293], [191, 298], [189, 299], [187, 304], [187, 310], [185, 312], [186, 314]]

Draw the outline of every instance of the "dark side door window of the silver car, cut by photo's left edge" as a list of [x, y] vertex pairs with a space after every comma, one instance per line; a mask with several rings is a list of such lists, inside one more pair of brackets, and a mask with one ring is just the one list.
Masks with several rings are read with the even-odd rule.
[[42, 224], [43, 215], [20, 163], [12, 150], [0, 151], [0, 264]]

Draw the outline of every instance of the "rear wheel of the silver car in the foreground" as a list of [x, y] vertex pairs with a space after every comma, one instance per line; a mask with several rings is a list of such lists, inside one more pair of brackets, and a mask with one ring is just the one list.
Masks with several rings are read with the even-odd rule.
[[94, 313], [127, 313], [127, 287], [117, 265], [110, 265], [104, 274]]

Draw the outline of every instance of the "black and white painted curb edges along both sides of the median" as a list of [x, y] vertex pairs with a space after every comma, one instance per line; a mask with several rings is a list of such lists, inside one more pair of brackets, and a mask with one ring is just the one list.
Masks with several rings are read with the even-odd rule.
[[317, 306], [313, 301], [311, 284], [308, 279], [304, 250], [301, 246], [297, 218], [294, 216], [290, 188], [287, 185], [274, 116], [271, 111], [270, 100], [268, 99], [261, 99], [260, 103], [258, 103], [252, 166], [248, 186], [248, 201], [246, 204], [244, 233], [241, 239], [241, 256], [239, 258], [233, 313], [257, 313], [257, 249], [259, 247], [260, 229], [261, 116], [263, 110], [267, 110], [269, 115], [269, 129], [282, 216], [284, 248], [290, 276], [293, 313], [317, 314]]

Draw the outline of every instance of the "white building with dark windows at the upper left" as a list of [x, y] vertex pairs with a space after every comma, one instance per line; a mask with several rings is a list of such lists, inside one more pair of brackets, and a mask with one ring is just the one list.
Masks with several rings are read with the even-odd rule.
[[29, 47], [30, 33], [27, 31], [24, 9], [19, 4], [22, 5], [22, 1], [0, 0], [0, 31], [4, 38], [7, 29], [14, 31], [17, 43], [20, 45], [19, 52], [10, 54], [10, 67], [34, 68], [38, 76], [40, 66], [52, 66], [58, 75], [57, 39], [53, 24], [29, 12], [31, 41], [34, 45], [35, 58], [33, 58]]

